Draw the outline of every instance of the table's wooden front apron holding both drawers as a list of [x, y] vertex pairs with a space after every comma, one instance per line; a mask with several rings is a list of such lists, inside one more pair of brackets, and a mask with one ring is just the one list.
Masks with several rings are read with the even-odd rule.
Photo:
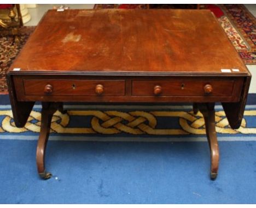
[[13, 81], [18, 101], [238, 102], [244, 78], [14, 76]]

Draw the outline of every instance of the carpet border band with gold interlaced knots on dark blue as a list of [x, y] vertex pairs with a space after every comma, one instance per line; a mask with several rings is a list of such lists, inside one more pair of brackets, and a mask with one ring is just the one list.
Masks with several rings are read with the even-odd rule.
[[[191, 106], [64, 107], [68, 110], [67, 113], [57, 111], [51, 120], [51, 139], [206, 141], [202, 114], [193, 114]], [[0, 105], [1, 138], [38, 139], [40, 109], [40, 105], [34, 106], [25, 127], [17, 128], [10, 106]], [[216, 131], [219, 140], [256, 140], [255, 121], [256, 106], [248, 105], [241, 127], [233, 130], [222, 107], [216, 106]]]

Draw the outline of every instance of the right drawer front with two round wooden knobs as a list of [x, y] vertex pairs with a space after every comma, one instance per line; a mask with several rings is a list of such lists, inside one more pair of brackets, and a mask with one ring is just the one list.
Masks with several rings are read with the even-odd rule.
[[234, 81], [133, 80], [133, 96], [231, 96]]

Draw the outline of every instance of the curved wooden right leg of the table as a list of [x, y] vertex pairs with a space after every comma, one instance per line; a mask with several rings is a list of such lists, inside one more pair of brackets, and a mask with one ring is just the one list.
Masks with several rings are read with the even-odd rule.
[[205, 129], [207, 140], [211, 151], [211, 179], [214, 180], [218, 175], [219, 167], [219, 146], [215, 129], [214, 103], [201, 103], [199, 110], [205, 119]]

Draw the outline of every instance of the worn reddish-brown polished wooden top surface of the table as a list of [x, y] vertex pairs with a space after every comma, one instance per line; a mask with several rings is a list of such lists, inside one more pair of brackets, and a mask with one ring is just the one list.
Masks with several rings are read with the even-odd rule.
[[210, 10], [49, 10], [10, 71], [14, 68], [248, 75]]

